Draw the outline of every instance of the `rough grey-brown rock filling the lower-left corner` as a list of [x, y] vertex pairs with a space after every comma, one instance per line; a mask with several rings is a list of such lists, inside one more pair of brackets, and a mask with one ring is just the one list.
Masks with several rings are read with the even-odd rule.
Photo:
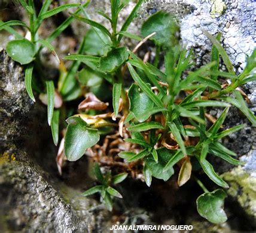
[[56, 187], [65, 192], [51, 186], [56, 182], [47, 173], [51, 164], [46, 158], [54, 163], [54, 151], [44, 141], [50, 135], [45, 108], [29, 99], [23, 69], [4, 50], [0, 51], [0, 77], [0, 231], [97, 229], [102, 211], [95, 216], [89, 210], [96, 201], [81, 198], [81, 191], [69, 190], [65, 184]]

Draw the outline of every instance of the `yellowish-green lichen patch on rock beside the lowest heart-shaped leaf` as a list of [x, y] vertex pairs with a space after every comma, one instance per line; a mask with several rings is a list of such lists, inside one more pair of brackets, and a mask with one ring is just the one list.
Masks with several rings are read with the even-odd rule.
[[227, 193], [236, 198], [250, 216], [256, 217], [256, 177], [249, 176], [241, 167], [222, 175], [230, 185]]

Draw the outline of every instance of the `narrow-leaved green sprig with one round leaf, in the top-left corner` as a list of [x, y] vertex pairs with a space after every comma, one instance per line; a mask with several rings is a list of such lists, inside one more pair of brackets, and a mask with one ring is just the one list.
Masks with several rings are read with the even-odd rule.
[[[19, 0], [19, 4], [25, 9], [26, 13], [28, 14], [29, 18], [29, 25], [23, 23], [19, 20], [11, 20], [8, 22], [0, 22], [0, 30], [7, 30], [7, 32], [13, 34], [16, 39], [8, 42], [6, 46], [6, 50], [8, 55], [19, 62], [21, 65], [25, 65], [25, 84], [26, 90], [28, 91], [29, 97], [35, 102], [35, 97], [33, 96], [32, 85], [36, 90], [39, 90], [41, 93], [47, 93], [47, 105], [48, 105], [48, 124], [51, 125], [52, 121], [53, 124], [56, 125], [56, 115], [58, 115], [57, 111], [54, 111], [54, 82], [52, 80], [48, 80], [41, 72], [41, 61], [39, 58], [39, 53], [43, 47], [47, 47], [53, 55], [56, 57], [57, 61], [60, 62], [59, 57], [56, 54], [53, 46], [50, 44], [66, 27], [74, 19], [72, 16], [65, 20], [56, 30], [54, 30], [50, 36], [46, 39], [39, 38], [38, 29], [42, 24], [44, 19], [48, 17], [54, 16], [61, 11], [67, 10], [69, 8], [79, 7], [81, 4], [65, 4], [59, 7], [56, 7], [52, 10], [48, 10], [51, 4], [51, 0], [45, 0], [42, 4], [42, 8], [38, 14], [36, 14], [36, 9], [34, 2], [32, 0], [25, 1]], [[89, 1], [83, 5], [86, 7], [89, 4]], [[77, 13], [80, 10], [76, 11]], [[13, 29], [13, 26], [22, 26], [26, 30], [26, 37], [17, 33], [16, 30]], [[41, 79], [33, 79], [33, 70], [34, 68], [38, 71], [39, 75], [41, 75]], [[34, 82], [33, 82], [34, 81]], [[40, 88], [42, 86], [42, 88]], [[53, 119], [54, 116], [54, 119]], [[53, 127], [52, 127], [53, 128]], [[59, 127], [55, 127], [54, 131]], [[53, 139], [54, 143], [57, 145], [58, 133], [54, 133], [53, 131]]]

